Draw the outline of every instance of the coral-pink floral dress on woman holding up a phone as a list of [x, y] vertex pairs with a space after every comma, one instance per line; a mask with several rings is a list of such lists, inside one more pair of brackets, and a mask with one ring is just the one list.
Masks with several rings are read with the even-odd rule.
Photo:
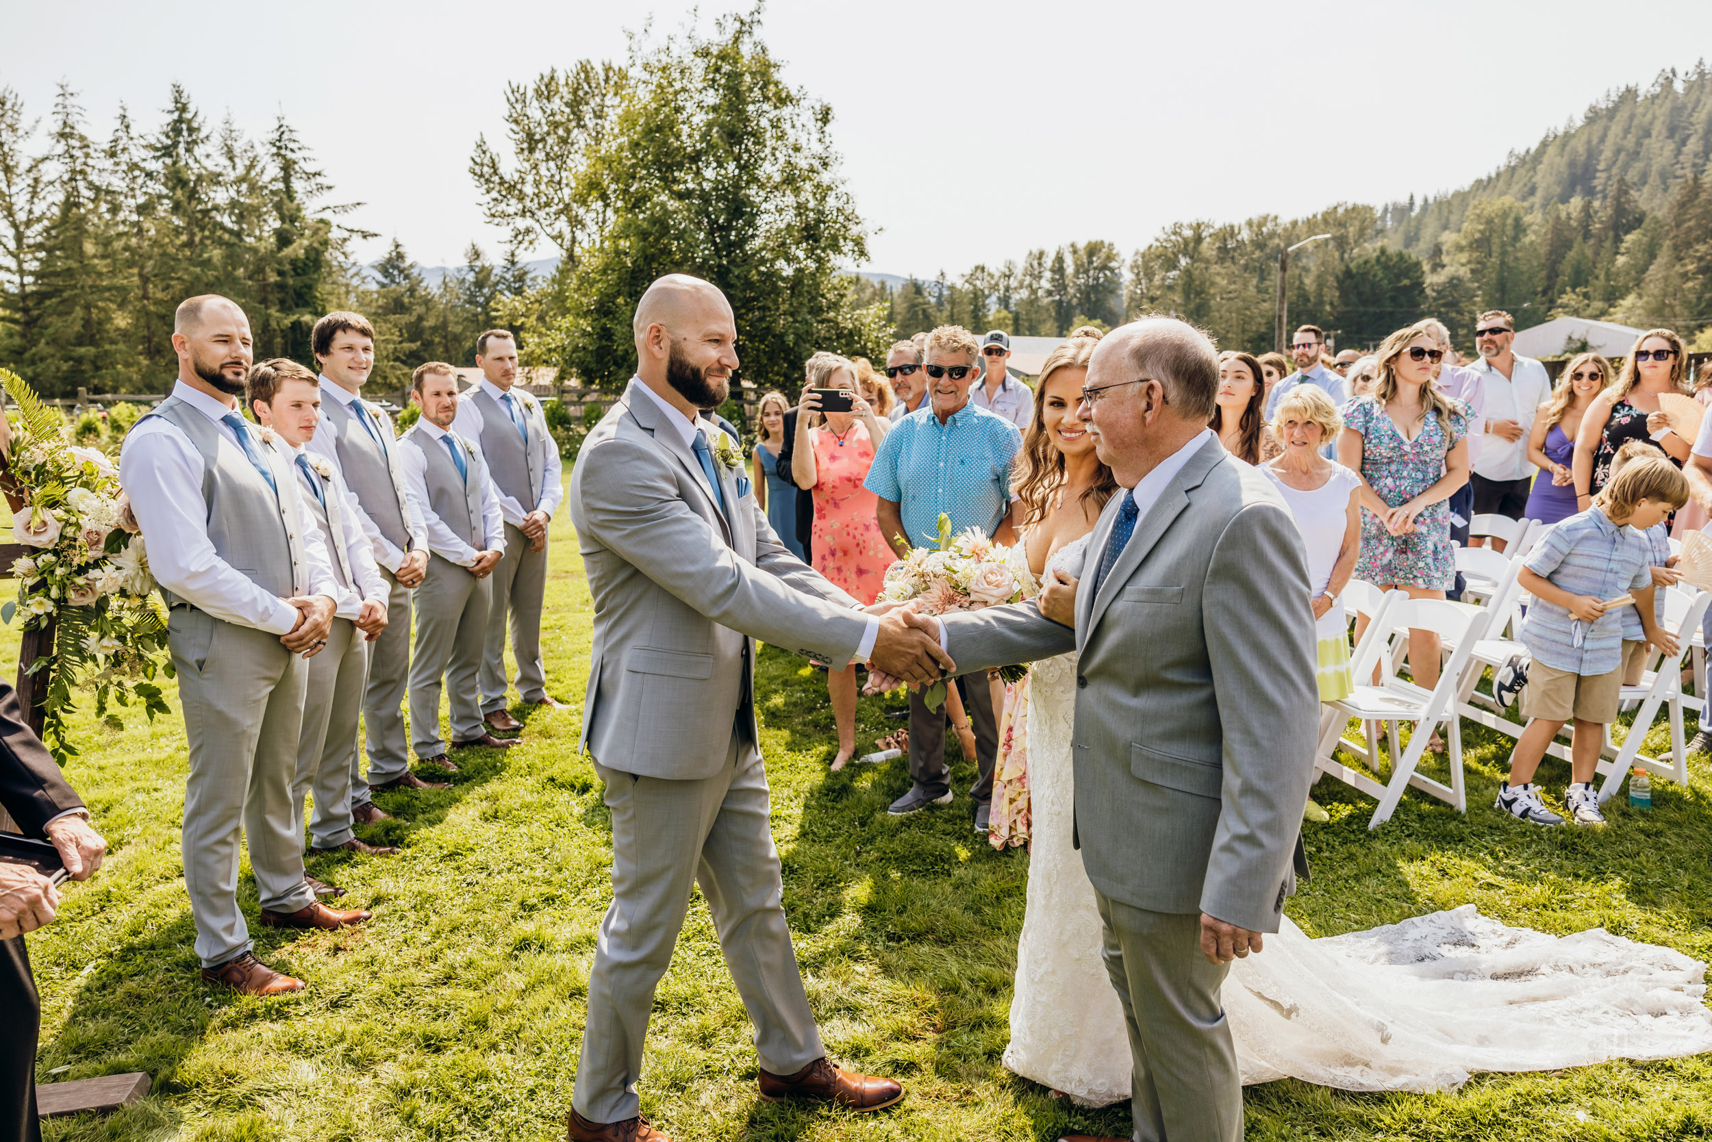
[[863, 488], [873, 466], [868, 426], [856, 421], [842, 440], [822, 425], [808, 433], [815, 445], [815, 570], [863, 603], [885, 586], [892, 551], [880, 536], [880, 498]]

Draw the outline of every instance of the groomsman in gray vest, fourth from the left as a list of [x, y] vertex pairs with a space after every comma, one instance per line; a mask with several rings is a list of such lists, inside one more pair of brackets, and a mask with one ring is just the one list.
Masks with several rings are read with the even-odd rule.
[[428, 527], [428, 577], [416, 589], [416, 656], [411, 661], [411, 743], [426, 765], [455, 774], [440, 736], [440, 676], [450, 687], [452, 748], [512, 746], [481, 724], [476, 675], [488, 635], [490, 577], [505, 556], [500, 497], [481, 450], [452, 431], [457, 370], [418, 365], [411, 401], [423, 414], [399, 438], [404, 486]]

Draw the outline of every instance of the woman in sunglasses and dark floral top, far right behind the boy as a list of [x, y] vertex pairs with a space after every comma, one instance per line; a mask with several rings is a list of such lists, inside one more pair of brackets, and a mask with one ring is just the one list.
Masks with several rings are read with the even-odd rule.
[[1592, 407], [1582, 418], [1575, 433], [1575, 505], [1592, 507], [1592, 497], [1611, 479], [1611, 461], [1628, 440], [1656, 440], [1671, 462], [1681, 467], [1693, 450], [1693, 440], [1683, 440], [1671, 431], [1669, 421], [1659, 413], [1659, 397], [1666, 392], [1688, 392], [1688, 353], [1683, 339], [1669, 329], [1649, 329], [1635, 339], [1635, 348], [1623, 360], [1616, 384], [1594, 397]]

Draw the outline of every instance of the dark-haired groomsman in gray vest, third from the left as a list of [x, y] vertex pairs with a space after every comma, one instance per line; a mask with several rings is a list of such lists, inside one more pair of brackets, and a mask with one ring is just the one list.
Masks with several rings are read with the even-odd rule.
[[[310, 348], [320, 365], [322, 418], [310, 452], [327, 457], [356, 497], [358, 520], [387, 580], [387, 628], [368, 645], [363, 721], [368, 724], [368, 781], [353, 769], [351, 813], [372, 825], [387, 813], [377, 789], [421, 789], [404, 740], [404, 688], [411, 669], [411, 589], [428, 570], [428, 532], [404, 493], [397, 440], [385, 409], [361, 399], [375, 366], [375, 329], [360, 313], [334, 312], [315, 322]], [[353, 765], [360, 760], [353, 755]]]

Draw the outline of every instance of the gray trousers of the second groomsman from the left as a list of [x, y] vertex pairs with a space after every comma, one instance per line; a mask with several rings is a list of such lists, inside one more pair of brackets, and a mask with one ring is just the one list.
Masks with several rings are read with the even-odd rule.
[[332, 620], [327, 645], [308, 661], [308, 673], [291, 810], [301, 837], [303, 800], [313, 791], [310, 844], [330, 849], [356, 836], [351, 832], [351, 781], [358, 767], [356, 723], [363, 712], [368, 639], [349, 618]]

